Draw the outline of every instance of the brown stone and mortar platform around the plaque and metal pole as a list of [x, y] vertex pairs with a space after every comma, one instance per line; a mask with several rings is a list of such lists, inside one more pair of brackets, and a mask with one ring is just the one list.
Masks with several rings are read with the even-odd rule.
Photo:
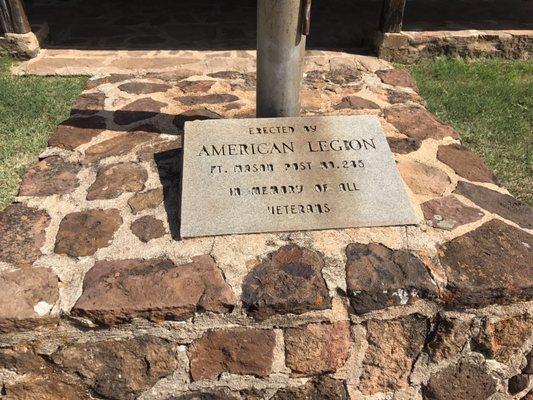
[[0, 212], [3, 399], [531, 400], [533, 211], [407, 73], [306, 69], [304, 114], [380, 117], [419, 225], [182, 240], [183, 125], [253, 116], [255, 76], [95, 76]]

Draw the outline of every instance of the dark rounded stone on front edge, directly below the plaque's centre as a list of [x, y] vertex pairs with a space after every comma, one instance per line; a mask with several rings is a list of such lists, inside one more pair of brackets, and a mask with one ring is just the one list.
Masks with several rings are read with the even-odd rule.
[[246, 311], [262, 320], [331, 307], [320, 254], [295, 245], [281, 247], [253, 268], [243, 282]]

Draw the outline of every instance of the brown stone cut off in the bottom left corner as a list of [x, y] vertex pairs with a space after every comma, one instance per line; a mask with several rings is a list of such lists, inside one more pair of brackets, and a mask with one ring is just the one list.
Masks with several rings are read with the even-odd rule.
[[73, 379], [33, 376], [6, 384], [4, 400], [89, 400], [91, 397]]

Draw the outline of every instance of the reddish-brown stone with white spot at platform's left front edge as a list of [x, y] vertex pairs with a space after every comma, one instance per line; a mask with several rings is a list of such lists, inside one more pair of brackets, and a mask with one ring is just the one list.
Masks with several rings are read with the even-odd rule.
[[33, 329], [57, 321], [58, 279], [48, 268], [0, 272], [0, 332]]

